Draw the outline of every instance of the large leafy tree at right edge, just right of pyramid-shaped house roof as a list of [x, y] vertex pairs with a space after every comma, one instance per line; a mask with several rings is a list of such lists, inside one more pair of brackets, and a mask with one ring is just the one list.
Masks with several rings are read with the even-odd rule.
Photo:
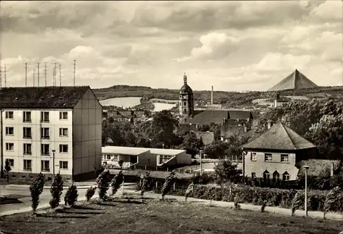
[[331, 159], [342, 159], [343, 114], [322, 116], [305, 137], [316, 144], [321, 155]]

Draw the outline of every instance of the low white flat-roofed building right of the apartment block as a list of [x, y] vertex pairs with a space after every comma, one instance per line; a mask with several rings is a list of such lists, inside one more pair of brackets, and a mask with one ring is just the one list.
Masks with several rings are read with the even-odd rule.
[[103, 146], [102, 162], [108, 166], [119, 167], [119, 160], [123, 160], [123, 168], [156, 168], [189, 165], [191, 155], [185, 150], [169, 148], [139, 148], [126, 146]]

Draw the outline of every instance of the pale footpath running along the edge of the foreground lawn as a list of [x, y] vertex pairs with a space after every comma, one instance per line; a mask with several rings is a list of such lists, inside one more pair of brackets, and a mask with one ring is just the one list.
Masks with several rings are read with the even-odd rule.
[[[78, 186], [78, 189], [81, 189], [82, 187], [84, 187], [86, 189], [93, 184], [94, 183], [89, 183], [88, 185], [77, 185], [77, 186]], [[10, 186], [10, 187], [13, 187], [13, 186], [19, 187], [20, 186], [23, 188], [25, 185], [8, 185], [8, 186]], [[49, 187], [49, 186], [47, 186], [47, 187]], [[137, 192], [134, 192], [134, 190], [132, 190], [132, 189], [131, 190], [125, 189], [125, 187], [123, 190], [121, 188], [119, 189], [119, 191], [117, 192], [118, 196], [121, 195], [121, 192], [123, 192], [125, 195], [138, 194]], [[130, 185], [128, 187], [130, 187]], [[83, 192], [79, 192], [78, 201], [86, 200], [86, 198], [84, 196], [85, 192], [86, 192], [86, 190], [83, 190]], [[148, 198], [161, 198], [161, 194], [155, 194], [153, 192], [147, 192], [144, 194], [144, 196], [148, 197]], [[99, 196], [97, 193], [95, 193], [95, 195], [93, 196], [93, 198], [98, 198], [98, 197]], [[166, 195], [165, 198], [185, 202], [184, 196]], [[234, 203], [218, 201], [218, 200], [204, 200], [204, 199], [199, 199], [199, 198], [187, 198], [187, 202], [188, 203], [195, 203], [195, 205], [211, 205], [212, 207], [228, 207], [228, 208], [234, 208], [235, 207]], [[241, 206], [241, 209], [261, 212], [261, 206], [242, 204], [242, 203], [239, 205]], [[1, 207], [1, 205], [0, 205], [0, 207]], [[38, 205], [38, 209], [44, 209], [44, 208], [48, 208], [48, 207], [49, 207], [49, 203], [42, 203], [42, 204]], [[9, 216], [9, 215], [12, 215], [14, 213], [23, 213], [23, 212], [29, 212], [29, 211], [32, 211], [32, 208], [31, 208], [31, 206], [26, 205], [25, 207], [22, 207], [21, 209], [1, 211], [0, 216]], [[280, 208], [280, 207], [265, 207], [265, 212], [278, 213], [278, 214], [283, 214], [286, 216], [291, 216], [291, 214], [292, 214], [290, 209], [285, 209], [285, 208]], [[296, 210], [294, 213], [294, 216], [305, 216], [305, 211]], [[324, 216], [324, 213], [322, 211], [308, 211], [308, 216], [310, 218], [322, 219]], [[342, 220], [343, 221], [343, 215], [340, 213], [327, 213], [325, 217], [328, 220]]]

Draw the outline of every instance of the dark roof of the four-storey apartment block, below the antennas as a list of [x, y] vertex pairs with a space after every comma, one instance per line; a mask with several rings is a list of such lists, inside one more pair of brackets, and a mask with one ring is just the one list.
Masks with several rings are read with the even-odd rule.
[[89, 86], [10, 87], [0, 89], [0, 108], [72, 108]]

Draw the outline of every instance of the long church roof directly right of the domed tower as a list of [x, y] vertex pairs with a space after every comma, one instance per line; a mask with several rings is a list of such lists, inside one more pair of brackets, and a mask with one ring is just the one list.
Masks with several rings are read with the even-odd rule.
[[211, 122], [222, 124], [223, 119], [228, 119], [228, 110], [206, 110], [191, 119], [193, 125], [208, 125]]

